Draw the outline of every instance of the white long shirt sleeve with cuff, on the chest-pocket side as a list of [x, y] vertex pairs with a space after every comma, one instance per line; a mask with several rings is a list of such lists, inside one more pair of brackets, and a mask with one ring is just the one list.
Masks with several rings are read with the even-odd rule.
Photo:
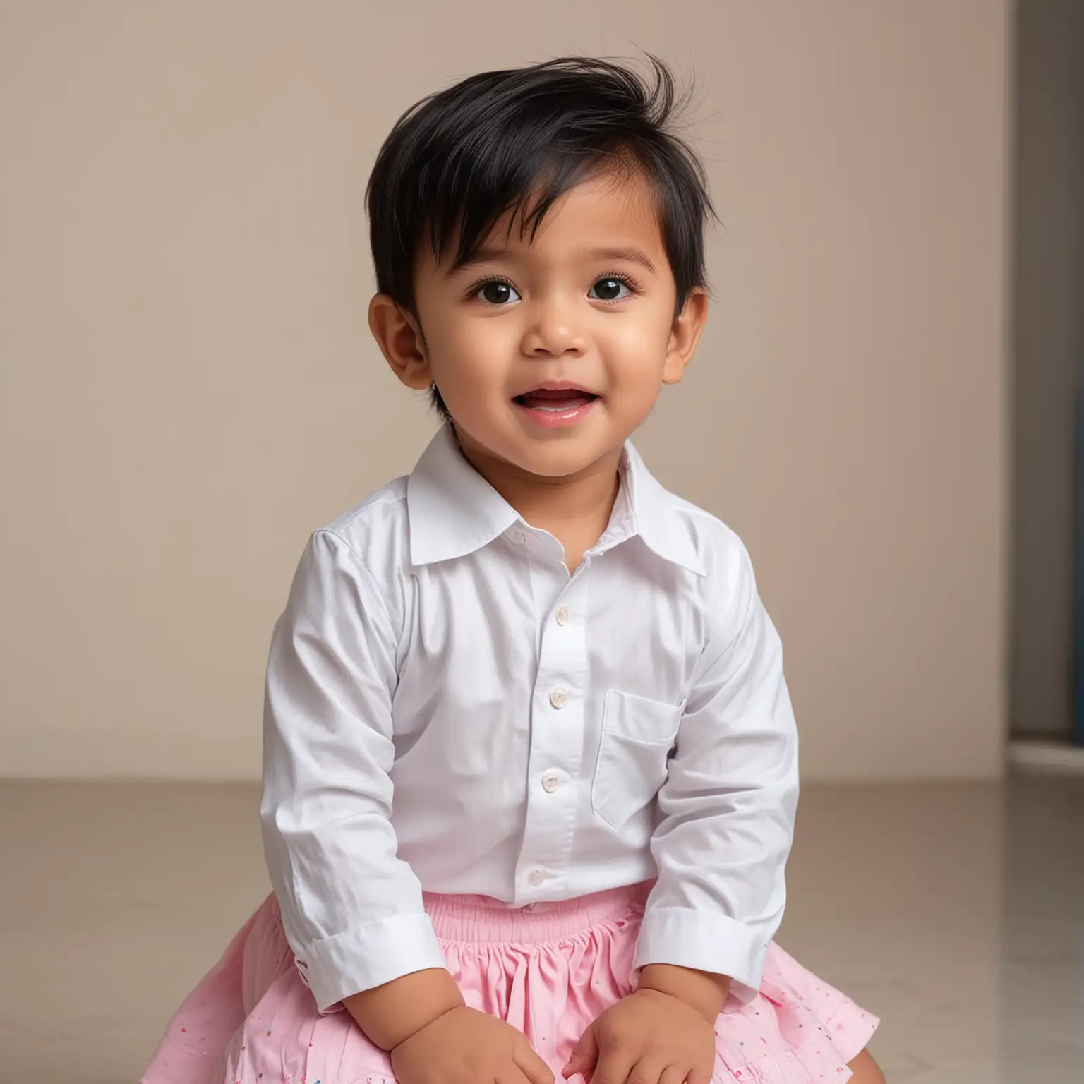
[[658, 880], [634, 967], [725, 975], [748, 1004], [786, 902], [798, 735], [779, 637], [744, 547], [733, 568], [658, 796]]

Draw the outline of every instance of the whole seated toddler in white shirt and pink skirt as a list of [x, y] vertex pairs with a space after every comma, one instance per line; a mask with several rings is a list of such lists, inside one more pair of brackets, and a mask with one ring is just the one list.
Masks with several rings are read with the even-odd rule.
[[661, 62], [557, 60], [380, 150], [370, 327], [442, 427], [301, 555], [274, 891], [144, 1084], [883, 1081], [773, 942], [797, 736], [749, 557], [629, 442], [708, 309], [674, 103]]

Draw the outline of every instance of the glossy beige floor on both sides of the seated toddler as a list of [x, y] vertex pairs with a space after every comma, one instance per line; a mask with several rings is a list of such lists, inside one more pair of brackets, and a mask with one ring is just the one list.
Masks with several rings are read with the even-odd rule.
[[[267, 891], [255, 788], [0, 784], [0, 1082], [134, 1081]], [[1084, 1082], [1084, 779], [809, 787], [779, 942], [890, 1084]]]

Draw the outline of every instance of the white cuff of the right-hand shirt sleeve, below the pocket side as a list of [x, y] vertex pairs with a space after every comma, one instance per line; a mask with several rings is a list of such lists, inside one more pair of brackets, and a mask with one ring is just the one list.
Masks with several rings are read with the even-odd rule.
[[[644, 915], [633, 957], [634, 981], [648, 964], [673, 964], [731, 979], [730, 997], [748, 1005], [760, 992], [767, 943], [727, 915], [655, 907]], [[727, 998], [730, 999], [730, 998]]]

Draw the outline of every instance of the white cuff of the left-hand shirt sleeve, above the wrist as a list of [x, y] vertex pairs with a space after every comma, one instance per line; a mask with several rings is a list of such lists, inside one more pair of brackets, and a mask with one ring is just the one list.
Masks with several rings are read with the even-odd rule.
[[310, 944], [295, 956], [320, 1012], [339, 1011], [344, 997], [414, 971], [448, 967], [429, 916], [393, 915]]

